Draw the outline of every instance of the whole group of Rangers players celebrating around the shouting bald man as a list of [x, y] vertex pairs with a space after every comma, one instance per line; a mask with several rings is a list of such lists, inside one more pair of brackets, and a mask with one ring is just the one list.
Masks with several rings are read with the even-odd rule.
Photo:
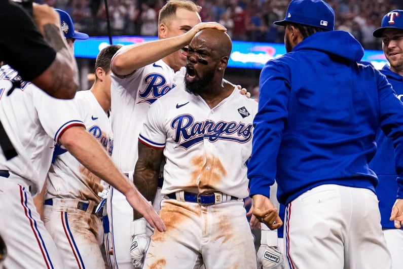
[[[259, 102], [200, 10], [169, 0], [159, 39], [103, 48], [74, 99], [1, 67], [0, 268], [402, 266], [403, 10], [378, 71], [328, 4], [292, 0]], [[56, 11], [71, 50], [88, 39]]]

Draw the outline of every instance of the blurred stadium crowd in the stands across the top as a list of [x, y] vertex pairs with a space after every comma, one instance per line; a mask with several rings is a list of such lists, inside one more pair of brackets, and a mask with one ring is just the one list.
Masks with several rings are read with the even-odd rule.
[[[107, 35], [107, 13], [113, 35], [156, 35], [158, 11], [163, 0], [39, 0], [67, 11], [76, 29], [92, 36]], [[284, 18], [288, 0], [196, 0], [203, 7], [203, 21], [225, 25], [233, 40], [282, 43], [283, 27], [273, 21]], [[381, 49], [372, 36], [383, 14], [403, 9], [401, 0], [327, 0], [336, 13], [336, 29], [352, 33], [365, 49]]]

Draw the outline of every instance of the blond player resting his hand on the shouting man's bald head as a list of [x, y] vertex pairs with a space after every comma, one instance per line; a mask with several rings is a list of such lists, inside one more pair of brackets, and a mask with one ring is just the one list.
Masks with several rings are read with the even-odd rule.
[[[181, 67], [185, 66], [186, 57], [180, 53], [180, 48], [190, 42], [196, 30], [183, 35], [183, 40], [174, 49], [167, 50], [166, 44], [169, 44], [170, 37], [184, 34], [201, 22], [200, 9], [191, 1], [168, 1], [159, 14], [158, 35], [161, 40], [125, 46], [112, 60], [112, 158], [130, 179], [137, 161], [136, 139], [145, 115], [153, 102], [183, 83], [185, 69]], [[143, 219], [132, 222], [133, 210], [116, 189], [111, 188], [107, 202], [116, 267], [133, 268], [133, 263], [141, 267], [152, 232], [149, 230], [145, 235]], [[159, 203], [154, 205], [158, 210]], [[133, 262], [130, 255], [132, 243]]]

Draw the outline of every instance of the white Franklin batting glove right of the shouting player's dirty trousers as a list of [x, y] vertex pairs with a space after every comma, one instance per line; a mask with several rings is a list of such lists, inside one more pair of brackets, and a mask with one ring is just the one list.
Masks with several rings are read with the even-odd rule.
[[283, 254], [277, 247], [277, 230], [262, 223], [260, 247], [257, 253], [258, 269], [284, 269]]

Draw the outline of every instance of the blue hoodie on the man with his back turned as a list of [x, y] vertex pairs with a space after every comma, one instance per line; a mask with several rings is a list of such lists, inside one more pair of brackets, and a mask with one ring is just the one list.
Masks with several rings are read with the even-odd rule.
[[275, 178], [283, 204], [323, 184], [375, 192], [368, 163], [379, 127], [393, 137], [403, 176], [403, 104], [383, 74], [357, 64], [362, 56], [350, 33], [328, 31], [266, 63], [248, 166], [251, 196], [269, 197]]

